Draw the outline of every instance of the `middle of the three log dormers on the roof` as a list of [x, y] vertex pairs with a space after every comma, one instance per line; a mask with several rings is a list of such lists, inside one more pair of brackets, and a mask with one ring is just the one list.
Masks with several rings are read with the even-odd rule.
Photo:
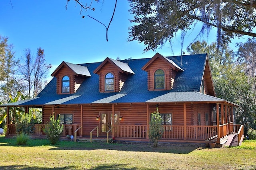
[[99, 75], [99, 91], [120, 92], [128, 75], [134, 74], [128, 64], [106, 58], [93, 73]]

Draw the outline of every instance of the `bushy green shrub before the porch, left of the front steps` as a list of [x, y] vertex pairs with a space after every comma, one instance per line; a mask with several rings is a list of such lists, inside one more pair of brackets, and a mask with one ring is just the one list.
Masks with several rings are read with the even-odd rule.
[[57, 141], [60, 139], [60, 135], [64, 129], [63, 125], [60, 125], [60, 116], [58, 120], [54, 119], [53, 115], [50, 115], [50, 122], [47, 122], [46, 127], [43, 129], [44, 133], [46, 133], [47, 138], [49, 139], [52, 145], [55, 145]]

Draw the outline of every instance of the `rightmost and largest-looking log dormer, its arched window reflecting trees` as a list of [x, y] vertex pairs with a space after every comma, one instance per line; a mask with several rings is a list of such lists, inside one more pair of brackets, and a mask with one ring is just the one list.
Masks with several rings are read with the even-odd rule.
[[184, 71], [172, 60], [156, 53], [142, 70], [148, 73], [148, 90], [171, 90], [178, 71]]

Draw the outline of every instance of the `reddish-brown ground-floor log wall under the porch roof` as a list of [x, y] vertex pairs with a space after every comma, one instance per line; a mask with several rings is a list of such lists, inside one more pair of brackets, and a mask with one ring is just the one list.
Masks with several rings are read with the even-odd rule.
[[[73, 124], [82, 125], [82, 134], [84, 136], [90, 135], [90, 131], [96, 126], [100, 127], [100, 120], [96, 117], [100, 113], [112, 114], [114, 107], [115, 113], [122, 116], [121, 121], [118, 120], [120, 125], [147, 125], [147, 117], [150, 119], [150, 113], [156, 111], [156, 105], [149, 105], [149, 115], [147, 116], [147, 104], [86, 104], [81, 106], [59, 106], [54, 107], [55, 116], [57, 114], [72, 113]], [[159, 104], [158, 111], [162, 114], [172, 113], [172, 123], [175, 126], [184, 126], [184, 105], [183, 104]], [[81, 108], [82, 121], [81, 121]], [[205, 124], [204, 113], [208, 111], [210, 119], [210, 104], [186, 104], [186, 125], [197, 125], [197, 115], [201, 113], [201, 125]], [[43, 123], [50, 120], [50, 115], [53, 113], [52, 106], [43, 107]], [[210, 120], [209, 120], [210, 122]], [[174, 132], [172, 132], [174, 133]], [[96, 135], [96, 134], [94, 134]]]

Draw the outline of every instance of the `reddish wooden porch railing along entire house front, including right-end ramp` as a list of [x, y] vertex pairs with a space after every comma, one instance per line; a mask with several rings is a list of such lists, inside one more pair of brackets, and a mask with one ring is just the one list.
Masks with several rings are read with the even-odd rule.
[[[43, 128], [46, 125], [36, 124], [33, 128], [34, 137], [46, 137]], [[8, 124], [7, 134], [16, 135], [15, 124]], [[238, 144], [243, 141], [244, 127], [243, 125], [234, 125], [233, 122], [213, 126], [178, 126], [178, 125], [163, 125], [163, 134], [161, 142], [180, 142], [180, 143], [209, 143], [215, 141], [217, 144], [225, 143], [226, 138], [230, 134], [238, 135]], [[110, 137], [115, 137], [118, 141], [149, 141], [148, 131], [149, 125], [114, 125], [110, 131]], [[76, 132], [76, 134], [75, 134]], [[79, 139], [86, 138], [88, 135], [82, 135], [81, 125], [64, 125], [62, 137], [73, 135]], [[97, 131], [92, 131], [93, 138], [96, 139]]]

